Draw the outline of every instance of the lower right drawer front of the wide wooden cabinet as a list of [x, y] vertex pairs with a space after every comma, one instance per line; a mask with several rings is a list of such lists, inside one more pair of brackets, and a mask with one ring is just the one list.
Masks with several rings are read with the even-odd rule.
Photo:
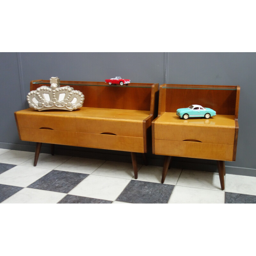
[[144, 153], [143, 138], [77, 132], [78, 146]]

